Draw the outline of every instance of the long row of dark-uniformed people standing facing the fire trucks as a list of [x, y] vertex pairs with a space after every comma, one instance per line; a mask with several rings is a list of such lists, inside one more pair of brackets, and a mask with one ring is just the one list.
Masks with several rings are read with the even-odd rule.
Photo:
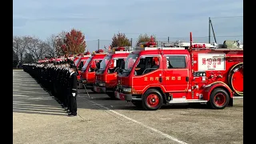
[[77, 115], [77, 67], [73, 61], [24, 64], [23, 70], [54, 95], [69, 116]]

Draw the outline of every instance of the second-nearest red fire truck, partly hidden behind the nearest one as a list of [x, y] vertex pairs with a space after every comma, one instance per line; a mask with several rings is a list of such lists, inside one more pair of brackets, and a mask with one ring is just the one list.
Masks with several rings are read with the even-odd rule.
[[111, 49], [110, 54], [107, 54], [102, 60], [100, 68], [96, 72], [95, 92], [106, 93], [110, 98], [114, 98], [114, 90], [118, 84], [118, 70], [124, 69], [125, 60], [131, 50], [130, 46], [119, 46]]

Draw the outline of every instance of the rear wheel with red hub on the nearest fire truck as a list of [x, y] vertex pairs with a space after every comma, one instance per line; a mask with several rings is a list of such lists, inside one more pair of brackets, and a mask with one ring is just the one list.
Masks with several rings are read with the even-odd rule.
[[214, 89], [210, 94], [208, 105], [212, 109], [224, 109], [230, 102], [230, 96], [222, 88]]

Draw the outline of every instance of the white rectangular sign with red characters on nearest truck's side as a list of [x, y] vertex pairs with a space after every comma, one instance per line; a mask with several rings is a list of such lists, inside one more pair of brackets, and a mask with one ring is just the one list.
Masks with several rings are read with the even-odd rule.
[[198, 54], [198, 70], [225, 70], [225, 54]]

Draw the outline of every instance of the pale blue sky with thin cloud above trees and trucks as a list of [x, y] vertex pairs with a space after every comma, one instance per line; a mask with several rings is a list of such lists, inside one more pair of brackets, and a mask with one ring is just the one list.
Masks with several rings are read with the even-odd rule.
[[[139, 34], [159, 41], [208, 42], [209, 17], [218, 43], [243, 41], [242, 0], [14, 0], [13, 35], [46, 40], [72, 28], [86, 36], [86, 49], [109, 46], [118, 32], [136, 42]], [[211, 34], [213, 35], [213, 34]], [[214, 42], [214, 38], [211, 38]]]

